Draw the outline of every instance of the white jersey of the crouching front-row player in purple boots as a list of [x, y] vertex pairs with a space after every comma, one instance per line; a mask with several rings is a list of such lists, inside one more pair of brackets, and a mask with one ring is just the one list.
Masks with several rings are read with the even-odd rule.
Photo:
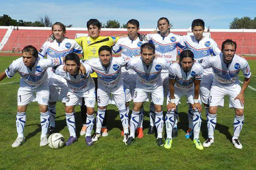
[[71, 75], [70, 73], [63, 70], [64, 65], [59, 66], [55, 70], [55, 73], [57, 75], [60, 75], [61, 77], [67, 80], [68, 89], [73, 93], [85, 93], [89, 89], [95, 88], [94, 81], [90, 76], [93, 70], [88, 64], [86, 63], [82, 63], [82, 64], [86, 69], [85, 76], [82, 74], [78, 74], [76, 76]]

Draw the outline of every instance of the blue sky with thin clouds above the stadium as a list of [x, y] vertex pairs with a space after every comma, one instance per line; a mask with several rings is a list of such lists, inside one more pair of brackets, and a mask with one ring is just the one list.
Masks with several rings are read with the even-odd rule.
[[88, 19], [106, 23], [115, 19], [120, 25], [137, 19], [140, 28], [156, 28], [157, 20], [167, 17], [173, 28], [189, 28], [194, 19], [205, 27], [229, 29], [236, 17], [256, 17], [256, 0], [0, 0], [0, 16], [36, 21], [47, 15], [52, 23], [86, 27]]

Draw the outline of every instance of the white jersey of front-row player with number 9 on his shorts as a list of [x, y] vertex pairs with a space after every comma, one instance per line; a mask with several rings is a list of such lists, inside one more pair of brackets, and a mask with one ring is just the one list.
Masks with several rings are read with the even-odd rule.
[[150, 65], [145, 65], [141, 57], [132, 58], [127, 68], [134, 69], [137, 73], [136, 88], [153, 90], [162, 86], [161, 71], [169, 69], [171, 62], [164, 58], [155, 58]]

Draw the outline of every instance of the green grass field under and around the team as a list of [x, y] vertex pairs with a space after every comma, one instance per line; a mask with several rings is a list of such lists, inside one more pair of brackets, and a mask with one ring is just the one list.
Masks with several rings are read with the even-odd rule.
[[[0, 72], [4, 71], [17, 57], [0, 57]], [[249, 61], [253, 73], [250, 86], [256, 88], [256, 60]], [[242, 74], [241, 74], [242, 75]], [[169, 169], [209, 169], [209, 170], [255, 170], [256, 167], [256, 121], [254, 104], [256, 91], [248, 88], [245, 93], [245, 123], [240, 134], [243, 149], [236, 149], [232, 143], [234, 109], [219, 108], [215, 131], [215, 143], [202, 151], [193, 146], [191, 139], [185, 139], [187, 130], [187, 109], [185, 98], [179, 105], [178, 137], [173, 140], [170, 150], [158, 147], [154, 135], [144, 135], [143, 139], [127, 146], [122, 142], [121, 122], [114, 105], [108, 106], [108, 137], [101, 138], [93, 146], [85, 144], [84, 136], [73, 145], [59, 150], [41, 147], [40, 113], [37, 103], [30, 103], [27, 109], [25, 126], [26, 142], [18, 148], [11, 145], [17, 137], [15, 117], [17, 106], [17, 90], [20, 75], [6, 78], [0, 82], [0, 169], [24, 170], [169, 170]], [[240, 77], [243, 81], [243, 76]], [[13, 82], [13, 83], [12, 83]], [[8, 84], [4, 84], [8, 83]], [[130, 105], [132, 108], [132, 104]], [[149, 103], [144, 104], [146, 115], [143, 122], [144, 134], [149, 126]], [[166, 105], [164, 105], [166, 112]], [[76, 107], [76, 129], [81, 130], [80, 108]], [[206, 116], [202, 112], [200, 140], [207, 138]], [[67, 140], [69, 133], [66, 127], [65, 111], [62, 103], [57, 104], [57, 131]]]

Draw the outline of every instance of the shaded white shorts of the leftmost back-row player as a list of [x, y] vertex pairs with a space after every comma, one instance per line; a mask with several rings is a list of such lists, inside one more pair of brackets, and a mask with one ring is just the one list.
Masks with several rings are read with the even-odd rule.
[[[63, 84], [65, 85], [65, 84]], [[67, 86], [53, 86], [49, 85], [50, 88], [50, 100], [49, 102], [61, 101], [62, 103], [66, 103], [67, 100]]]

